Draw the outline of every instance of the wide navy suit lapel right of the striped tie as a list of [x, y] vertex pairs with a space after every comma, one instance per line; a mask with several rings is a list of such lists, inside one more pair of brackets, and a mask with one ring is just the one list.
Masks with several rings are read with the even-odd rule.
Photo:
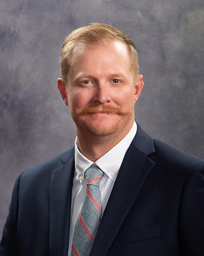
[[[142, 144], [140, 143], [141, 140]], [[125, 154], [90, 256], [103, 256], [108, 253], [147, 175], [155, 165], [154, 161], [146, 157], [146, 155], [154, 152], [153, 139], [143, 132], [139, 126], [137, 135]]]

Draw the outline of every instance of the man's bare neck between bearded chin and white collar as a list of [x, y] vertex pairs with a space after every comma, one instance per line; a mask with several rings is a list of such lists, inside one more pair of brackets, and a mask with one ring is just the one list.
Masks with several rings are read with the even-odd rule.
[[84, 131], [79, 132], [76, 129], [81, 153], [95, 162], [117, 145], [130, 132], [132, 125], [120, 134], [115, 133], [107, 136], [95, 136]]

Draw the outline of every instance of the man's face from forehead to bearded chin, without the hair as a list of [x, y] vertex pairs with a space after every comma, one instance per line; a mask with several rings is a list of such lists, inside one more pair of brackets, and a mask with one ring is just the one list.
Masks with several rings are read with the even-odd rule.
[[134, 84], [130, 53], [120, 41], [75, 47], [67, 100], [77, 135], [125, 136], [142, 86], [142, 76]]

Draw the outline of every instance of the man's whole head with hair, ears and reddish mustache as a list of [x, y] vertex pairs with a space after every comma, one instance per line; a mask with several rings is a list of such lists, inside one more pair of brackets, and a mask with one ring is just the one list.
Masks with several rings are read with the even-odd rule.
[[108, 25], [77, 29], [65, 39], [61, 67], [58, 88], [78, 138], [124, 138], [143, 88], [134, 42]]

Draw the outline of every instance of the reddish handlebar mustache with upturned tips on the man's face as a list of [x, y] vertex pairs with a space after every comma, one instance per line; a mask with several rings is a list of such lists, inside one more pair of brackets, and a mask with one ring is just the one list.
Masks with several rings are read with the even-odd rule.
[[98, 111], [103, 111], [106, 114], [117, 114], [117, 115], [127, 115], [128, 113], [121, 111], [119, 108], [113, 107], [113, 106], [107, 106], [104, 105], [103, 109], [101, 110], [101, 106], [87, 106], [87, 108], [84, 108], [81, 112], [75, 115], [75, 117], [80, 115], [91, 115], [96, 114]]

